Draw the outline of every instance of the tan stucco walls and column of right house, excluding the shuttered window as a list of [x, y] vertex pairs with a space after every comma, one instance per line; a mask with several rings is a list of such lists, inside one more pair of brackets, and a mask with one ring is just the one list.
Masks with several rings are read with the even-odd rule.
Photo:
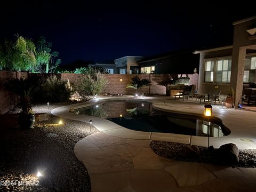
[[[243, 93], [243, 78], [246, 55], [256, 54], [256, 35], [250, 35], [246, 30], [256, 27], [256, 16], [236, 21], [234, 25], [233, 45], [217, 47], [211, 50], [195, 51], [200, 54], [198, 92], [209, 93], [210, 90], [219, 89], [222, 95], [227, 95], [230, 87], [235, 90], [235, 106], [241, 103]], [[231, 59], [231, 76], [229, 83], [205, 82], [204, 63], [207, 59]], [[215, 74], [215, 71], [214, 71]], [[256, 81], [256, 79], [255, 79]], [[222, 98], [225, 99], [225, 98]]]

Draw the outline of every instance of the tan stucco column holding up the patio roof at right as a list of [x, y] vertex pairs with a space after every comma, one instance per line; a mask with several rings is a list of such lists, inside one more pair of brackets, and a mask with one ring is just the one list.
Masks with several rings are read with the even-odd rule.
[[235, 90], [234, 104], [236, 107], [238, 102], [242, 102], [245, 56], [246, 47], [233, 49], [230, 86]]

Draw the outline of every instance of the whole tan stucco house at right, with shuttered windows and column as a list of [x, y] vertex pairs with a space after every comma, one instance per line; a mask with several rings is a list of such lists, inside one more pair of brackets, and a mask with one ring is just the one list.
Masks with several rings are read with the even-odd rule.
[[256, 16], [233, 23], [233, 45], [195, 51], [200, 54], [198, 92], [235, 90], [235, 106], [241, 103], [243, 86], [256, 82]]

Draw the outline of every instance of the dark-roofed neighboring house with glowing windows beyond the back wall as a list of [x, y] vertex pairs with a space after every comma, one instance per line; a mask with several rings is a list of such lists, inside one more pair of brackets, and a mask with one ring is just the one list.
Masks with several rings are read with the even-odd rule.
[[194, 69], [199, 67], [198, 60], [198, 55], [186, 50], [147, 57], [138, 61], [138, 64], [142, 74], [193, 74]]

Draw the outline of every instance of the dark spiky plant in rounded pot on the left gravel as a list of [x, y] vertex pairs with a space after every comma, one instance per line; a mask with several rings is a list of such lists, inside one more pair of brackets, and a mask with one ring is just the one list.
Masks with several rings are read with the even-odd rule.
[[12, 79], [6, 87], [20, 97], [22, 111], [19, 115], [19, 125], [22, 129], [31, 129], [35, 124], [35, 114], [32, 110], [31, 96], [39, 90], [39, 87], [29, 79]]

